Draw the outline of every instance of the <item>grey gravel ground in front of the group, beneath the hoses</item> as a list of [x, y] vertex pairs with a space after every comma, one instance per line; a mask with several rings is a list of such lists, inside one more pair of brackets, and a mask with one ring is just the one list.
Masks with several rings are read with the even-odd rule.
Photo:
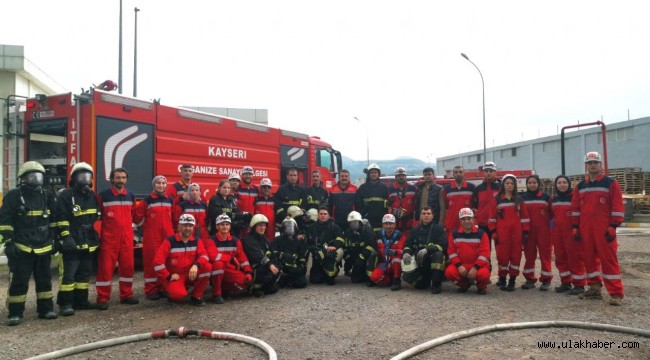
[[[518, 288], [514, 293], [506, 293], [494, 285], [489, 286], [487, 296], [476, 295], [474, 288], [458, 294], [450, 283], [443, 285], [444, 292], [440, 295], [408, 285], [401, 291], [391, 292], [388, 288], [352, 284], [340, 276], [335, 286], [310, 285], [301, 290], [281, 290], [260, 299], [227, 299], [224, 305], [208, 304], [204, 308], [147, 300], [135, 306], [120, 305], [114, 292], [108, 311], [77, 312], [72, 317], [45, 321], [36, 318], [31, 287], [23, 323], [17, 327], [0, 325], [0, 359], [22, 359], [69, 346], [179, 326], [256, 337], [271, 345], [279, 359], [386, 359], [439, 336], [508, 322], [574, 320], [650, 329], [650, 230], [621, 229], [619, 259], [626, 291], [621, 307], [607, 305], [607, 296], [604, 301], [580, 301], [536, 289]], [[1, 271], [0, 296], [4, 303], [6, 268]], [[521, 285], [523, 277], [518, 280]], [[492, 281], [496, 282], [496, 276]], [[135, 284], [135, 293], [142, 298], [141, 272], [136, 274]], [[553, 286], [556, 285], [557, 276], [553, 281]], [[6, 314], [3, 307], [0, 311], [3, 322]], [[610, 349], [538, 348], [538, 342], [542, 341], [554, 341], [558, 345], [567, 341], [616, 343]], [[637, 342], [638, 348], [618, 348], [629, 341]], [[265, 357], [262, 350], [247, 344], [188, 338], [131, 343], [71, 358]], [[414, 358], [434, 357], [648, 359], [650, 339], [579, 329], [518, 330], [454, 341]]]

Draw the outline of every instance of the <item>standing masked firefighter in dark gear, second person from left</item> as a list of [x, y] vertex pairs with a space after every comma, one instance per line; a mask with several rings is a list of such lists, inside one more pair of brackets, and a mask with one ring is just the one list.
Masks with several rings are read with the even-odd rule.
[[56, 302], [63, 316], [92, 308], [88, 301], [88, 283], [93, 257], [99, 247], [99, 234], [94, 228], [99, 211], [92, 190], [93, 173], [89, 164], [75, 164], [70, 173], [70, 187], [59, 193], [56, 202], [56, 232], [61, 243], [60, 264], [63, 265]]

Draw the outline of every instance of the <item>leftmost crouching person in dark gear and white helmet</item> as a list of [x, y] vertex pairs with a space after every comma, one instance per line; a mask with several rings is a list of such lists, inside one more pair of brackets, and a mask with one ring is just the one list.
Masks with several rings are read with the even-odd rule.
[[280, 275], [280, 269], [271, 262], [271, 243], [266, 238], [268, 224], [269, 219], [266, 216], [255, 214], [249, 224], [248, 234], [242, 241], [246, 257], [255, 271], [252, 288], [255, 297], [278, 292], [275, 283]]

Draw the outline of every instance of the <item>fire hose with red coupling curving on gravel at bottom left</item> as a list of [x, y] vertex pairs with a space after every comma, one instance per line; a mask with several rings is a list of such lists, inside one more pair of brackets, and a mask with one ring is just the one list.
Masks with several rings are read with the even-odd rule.
[[217, 339], [217, 340], [233, 340], [233, 341], [243, 342], [264, 350], [264, 352], [266, 352], [266, 354], [269, 356], [269, 360], [277, 360], [278, 358], [275, 353], [275, 350], [273, 350], [273, 348], [269, 344], [265, 343], [262, 340], [256, 339], [254, 337], [240, 335], [240, 334], [233, 334], [233, 333], [210, 331], [210, 330], [189, 330], [185, 327], [180, 327], [178, 330], [157, 330], [150, 333], [122, 336], [118, 338], [96, 341], [96, 342], [78, 345], [78, 346], [72, 346], [69, 348], [52, 351], [47, 354], [34, 356], [27, 360], [58, 359], [64, 356], [80, 354], [86, 351], [97, 350], [106, 347], [132, 343], [136, 341], [165, 339], [171, 337], [185, 338], [190, 335], [206, 337], [210, 339]]

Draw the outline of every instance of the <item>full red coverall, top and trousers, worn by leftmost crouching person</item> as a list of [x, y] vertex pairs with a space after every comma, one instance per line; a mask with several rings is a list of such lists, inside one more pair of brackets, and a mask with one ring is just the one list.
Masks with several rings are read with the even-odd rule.
[[[190, 268], [199, 265], [196, 279], [190, 281]], [[201, 299], [210, 280], [210, 263], [203, 242], [195, 237], [184, 243], [178, 234], [168, 237], [160, 245], [154, 260], [154, 270], [167, 290], [169, 299], [180, 301], [187, 296], [187, 289], [194, 285], [192, 297]], [[178, 274], [178, 280], [169, 281], [171, 274]]]

